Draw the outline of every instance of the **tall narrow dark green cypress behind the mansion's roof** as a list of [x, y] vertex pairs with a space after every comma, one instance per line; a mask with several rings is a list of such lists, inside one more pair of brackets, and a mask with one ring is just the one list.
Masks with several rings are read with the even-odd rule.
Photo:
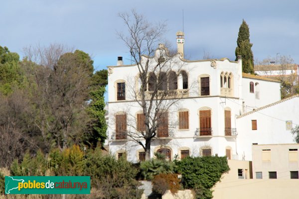
[[243, 19], [237, 39], [236, 61], [238, 60], [238, 55], [242, 55], [242, 71], [244, 73], [254, 74], [253, 53], [251, 47], [249, 27]]

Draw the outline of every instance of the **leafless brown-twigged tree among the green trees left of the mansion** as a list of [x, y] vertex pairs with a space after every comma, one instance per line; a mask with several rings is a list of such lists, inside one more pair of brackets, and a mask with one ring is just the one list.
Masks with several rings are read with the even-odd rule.
[[29, 69], [27, 75], [35, 85], [32, 117], [46, 148], [62, 149], [78, 142], [89, 119], [84, 107], [92, 63], [86, 53], [69, 50], [60, 44], [24, 49], [24, 68]]

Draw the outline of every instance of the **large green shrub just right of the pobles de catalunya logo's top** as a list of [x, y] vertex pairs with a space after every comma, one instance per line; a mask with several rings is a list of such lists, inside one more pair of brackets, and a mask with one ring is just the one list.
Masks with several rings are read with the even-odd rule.
[[101, 199], [140, 199], [143, 190], [138, 189], [137, 173], [125, 158], [102, 155], [100, 147], [87, 154], [85, 175], [91, 177], [92, 187], [100, 191]]

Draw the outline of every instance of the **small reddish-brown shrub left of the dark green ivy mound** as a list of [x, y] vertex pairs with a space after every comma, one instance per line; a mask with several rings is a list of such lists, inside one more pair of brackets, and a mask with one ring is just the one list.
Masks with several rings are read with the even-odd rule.
[[159, 174], [153, 177], [151, 181], [152, 191], [163, 195], [167, 190], [172, 194], [177, 193], [180, 188], [177, 174]]

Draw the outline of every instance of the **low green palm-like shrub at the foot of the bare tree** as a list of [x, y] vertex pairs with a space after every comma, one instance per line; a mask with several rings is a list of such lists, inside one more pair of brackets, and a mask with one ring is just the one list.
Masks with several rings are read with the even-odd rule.
[[174, 173], [175, 164], [173, 162], [166, 161], [159, 155], [156, 157], [157, 159], [144, 161], [140, 165], [141, 173], [146, 180], [152, 180], [153, 176], [158, 174]]

